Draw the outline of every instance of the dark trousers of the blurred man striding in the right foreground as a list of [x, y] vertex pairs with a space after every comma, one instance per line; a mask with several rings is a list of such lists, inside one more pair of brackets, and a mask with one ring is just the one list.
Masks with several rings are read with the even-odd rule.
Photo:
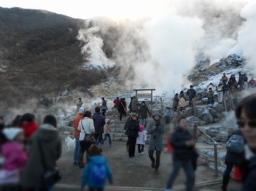
[[192, 162], [190, 160], [188, 161], [173, 160], [173, 172], [171, 172], [171, 175], [168, 178], [166, 189], [171, 189], [171, 187], [173, 187], [173, 182], [176, 179], [181, 167], [183, 168], [186, 174], [186, 191], [192, 191], [195, 174], [192, 168]]

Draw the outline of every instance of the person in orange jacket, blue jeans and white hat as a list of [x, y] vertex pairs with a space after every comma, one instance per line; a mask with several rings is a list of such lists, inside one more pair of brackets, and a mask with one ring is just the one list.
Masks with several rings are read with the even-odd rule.
[[85, 113], [85, 108], [80, 107], [79, 114], [77, 114], [74, 118], [74, 137], [76, 139], [76, 147], [74, 151], [74, 164], [79, 165], [79, 153], [80, 153], [80, 143], [79, 143], [79, 137], [80, 137], [80, 131], [78, 130], [78, 125], [81, 119], [83, 119], [83, 114]]

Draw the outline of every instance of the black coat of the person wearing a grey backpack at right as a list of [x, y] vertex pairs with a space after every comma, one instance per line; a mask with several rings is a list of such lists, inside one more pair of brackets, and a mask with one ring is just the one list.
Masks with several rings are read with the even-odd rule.
[[[241, 130], [236, 130], [233, 132], [232, 135], [242, 135], [242, 132]], [[232, 136], [231, 135], [231, 136]], [[231, 137], [230, 136], [230, 137]], [[228, 137], [228, 139], [230, 138]], [[243, 159], [245, 158], [245, 153], [234, 153], [234, 152], [231, 152], [229, 150], [227, 150], [227, 154], [226, 154], [226, 157], [225, 157], [225, 164], [234, 164], [234, 165], [237, 165], [239, 164], [240, 161], [242, 161]]]

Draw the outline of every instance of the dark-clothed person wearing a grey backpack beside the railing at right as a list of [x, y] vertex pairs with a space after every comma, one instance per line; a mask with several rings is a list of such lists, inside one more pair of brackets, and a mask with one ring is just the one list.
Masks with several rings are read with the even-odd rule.
[[[227, 143], [228, 141], [232, 141], [233, 135], [239, 135], [243, 138], [242, 131], [240, 128], [238, 128], [236, 131], [233, 132], [233, 134], [229, 135], [227, 138]], [[243, 138], [242, 143], [240, 144], [240, 147], [243, 148], [245, 140]], [[243, 149], [242, 149], [243, 150]], [[226, 169], [223, 174], [223, 179], [222, 179], [222, 191], [227, 190], [228, 182], [230, 180], [230, 173], [234, 167], [234, 165], [238, 165], [239, 162], [241, 162], [245, 158], [245, 153], [242, 151], [241, 153], [237, 152], [236, 150], [230, 150], [227, 147], [227, 154], [225, 156], [225, 164], [226, 164]]]

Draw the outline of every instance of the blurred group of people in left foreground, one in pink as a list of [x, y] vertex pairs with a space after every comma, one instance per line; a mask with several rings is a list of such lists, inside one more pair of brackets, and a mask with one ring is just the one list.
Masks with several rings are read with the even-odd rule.
[[47, 184], [46, 171], [58, 169], [56, 161], [61, 157], [55, 116], [47, 115], [38, 127], [31, 113], [17, 115], [5, 126], [0, 117], [0, 153], [4, 163], [0, 170], [0, 185], [3, 190], [52, 190]]

